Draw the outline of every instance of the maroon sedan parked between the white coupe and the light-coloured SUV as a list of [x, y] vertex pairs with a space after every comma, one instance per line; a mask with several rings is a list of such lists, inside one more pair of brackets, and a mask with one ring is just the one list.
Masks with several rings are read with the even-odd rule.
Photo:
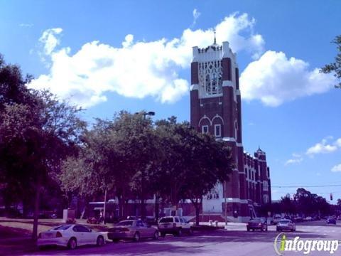
[[158, 239], [158, 230], [147, 225], [142, 220], [122, 220], [108, 230], [108, 238], [113, 242], [119, 240], [134, 240], [141, 238]]

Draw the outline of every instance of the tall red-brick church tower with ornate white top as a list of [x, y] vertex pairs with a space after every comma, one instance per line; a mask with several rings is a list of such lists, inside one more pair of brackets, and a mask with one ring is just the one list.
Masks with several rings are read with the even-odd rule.
[[[241, 103], [236, 54], [229, 48], [229, 43], [218, 46], [215, 42], [207, 48], [193, 47], [190, 123], [198, 132], [209, 133], [218, 140], [226, 141], [236, 164], [229, 181], [225, 185], [218, 185], [213, 196], [207, 196], [207, 200], [203, 201], [203, 214], [207, 211], [217, 215], [226, 213], [232, 221], [249, 220], [254, 215], [251, 196], [258, 193], [255, 197], [262, 197], [260, 186], [255, 185], [254, 191], [249, 192], [249, 168], [244, 164], [247, 154], [242, 144]], [[250, 157], [251, 160], [257, 160]], [[256, 181], [256, 178], [255, 175], [254, 181], [258, 185], [261, 182]]]

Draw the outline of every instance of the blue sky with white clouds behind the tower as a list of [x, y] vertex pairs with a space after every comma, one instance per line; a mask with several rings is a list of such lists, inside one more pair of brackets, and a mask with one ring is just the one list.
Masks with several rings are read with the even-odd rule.
[[215, 29], [237, 53], [244, 150], [266, 151], [273, 199], [297, 186], [335, 203], [341, 90], [318, 70], [337, 53], [340, 11], [336, 0], [0, 0], [0, 53], [90, 123], [119, 110], [184, 121], [192, 47], [211, 45]]

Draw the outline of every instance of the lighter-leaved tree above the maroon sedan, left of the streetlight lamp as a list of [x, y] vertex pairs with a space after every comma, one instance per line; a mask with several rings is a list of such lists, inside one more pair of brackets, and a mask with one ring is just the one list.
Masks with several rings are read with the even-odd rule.
[[[63, 188], [88, 196], [105, 190], [113, 193], [119, 201], [120, 217], [134, 193], [141, 200], [144, 217], [144, 198], [158, 154], [156, 139], [151, 120], [141, 114], [122, 111], [112, 120], [97, 119], [94, 127], [83, 134], [80, 156], [63, 165]], [[90, 185], [85, 187], [87, 183]]]

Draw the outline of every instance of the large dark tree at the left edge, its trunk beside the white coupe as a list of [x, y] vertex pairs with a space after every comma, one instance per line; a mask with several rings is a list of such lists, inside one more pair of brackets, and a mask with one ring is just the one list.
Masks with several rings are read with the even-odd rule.
[[[77, 152], [85, 123], [77, 107], [47, 91], [28, 90], [20, 68], [0, 61], [0, 171], [5, 196], [34, 194], [33, 238], [37, 237], [40, 192]], [[26, 196], [27, 197], [27, 196]], [[10, 201], [18, 200], [13, 195]]]

